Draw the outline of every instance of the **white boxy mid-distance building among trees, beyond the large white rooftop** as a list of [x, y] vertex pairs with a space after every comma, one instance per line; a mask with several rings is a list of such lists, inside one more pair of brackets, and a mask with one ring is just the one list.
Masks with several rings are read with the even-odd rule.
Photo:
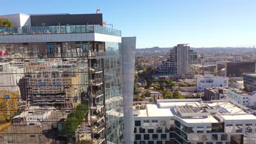
[[197, 91], [203, 91], [205, 87], [226, 87], [229, 86], [229, 77], [213, 76], [207, 74], [205, 76], [197, 76]]

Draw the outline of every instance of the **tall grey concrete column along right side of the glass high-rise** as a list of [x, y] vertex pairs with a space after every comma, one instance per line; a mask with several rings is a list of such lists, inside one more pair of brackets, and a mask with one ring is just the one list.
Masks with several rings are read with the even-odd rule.
[[122, 38], [122, 74], [124, 99], [124, 143], [133, 144], [133, 85], [135, 73], [136, 37]]

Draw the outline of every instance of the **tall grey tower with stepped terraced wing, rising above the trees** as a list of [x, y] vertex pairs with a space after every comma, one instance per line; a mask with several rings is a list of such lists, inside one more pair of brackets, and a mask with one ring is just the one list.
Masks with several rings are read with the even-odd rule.
[[190, 50], [188, 44], [174, 46], [170, 52], [166, 53], [166, 59], [156, 68], [160, 74], [172, 75], [175, 79], [181, 79], [181, 77], [191, 79], [194, 76], [189, 72], [189, 62], [197, 62], [197, 53]]

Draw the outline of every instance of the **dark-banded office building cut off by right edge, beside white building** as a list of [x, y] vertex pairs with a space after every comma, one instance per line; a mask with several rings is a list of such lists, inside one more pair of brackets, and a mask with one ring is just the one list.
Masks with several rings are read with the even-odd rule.
[[249, 88], [249, 91], [256, 91], [256, 74], [243, 73], [243, 85], [245, 88]]

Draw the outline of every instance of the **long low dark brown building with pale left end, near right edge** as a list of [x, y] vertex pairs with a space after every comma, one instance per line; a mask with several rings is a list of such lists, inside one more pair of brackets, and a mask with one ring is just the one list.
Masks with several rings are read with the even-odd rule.
[[255, 62], [216, 62], [218, 76], [242, 77], [243, 73], [255, 73]]

